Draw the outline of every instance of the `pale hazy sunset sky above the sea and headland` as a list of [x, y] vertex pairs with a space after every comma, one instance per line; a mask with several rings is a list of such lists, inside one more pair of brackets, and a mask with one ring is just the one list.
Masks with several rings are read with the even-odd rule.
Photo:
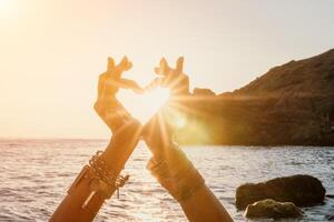
[[184, 56], [191, 88], [219, 93], [333, 46], [332, 0], [0, 0], [0, 138], [108, 138], [92, 110], [108, 56], [141, 84]]

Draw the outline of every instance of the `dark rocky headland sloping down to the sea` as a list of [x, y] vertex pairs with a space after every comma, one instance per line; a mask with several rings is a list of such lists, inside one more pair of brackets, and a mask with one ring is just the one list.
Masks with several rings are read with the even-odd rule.
[[195, 89], [181, 144], [334, 145], [334, 49], [235, 90]]

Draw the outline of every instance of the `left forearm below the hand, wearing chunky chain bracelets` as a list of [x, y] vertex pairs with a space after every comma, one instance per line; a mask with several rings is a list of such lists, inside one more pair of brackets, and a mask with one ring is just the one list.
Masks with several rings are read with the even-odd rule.
[[138, 124], [130, 124], [114, 133], [106, 151], [84, 167], [50, 221], [94, 220], [105, 200], [115, 193], [117, 178], [139, 140]]

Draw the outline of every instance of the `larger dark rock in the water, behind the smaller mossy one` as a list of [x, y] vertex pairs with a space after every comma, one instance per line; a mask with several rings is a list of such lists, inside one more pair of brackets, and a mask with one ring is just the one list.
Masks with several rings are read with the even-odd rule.
[[326, 190], [322, 182], [311, 175], [276, 178], [264, 183], [246, 183], [236, 190], [236, 206], [244, 210], [256, 201], [273, 199], [311, 206], [324, 201]]

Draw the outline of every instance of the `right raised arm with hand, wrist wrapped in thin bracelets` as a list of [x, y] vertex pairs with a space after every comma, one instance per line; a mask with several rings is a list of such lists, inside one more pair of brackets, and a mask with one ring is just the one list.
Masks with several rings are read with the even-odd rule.
[[[163, 58], [159, 67], [155, 68], [155, 72], [163, 78], [157, 83], [169, 88], [171, 99], [180, 104], [186, 102], [185, 95], [189, 94], [189, 78], [183, 72], [183, 57], [178, 58], [175, 69]], [[144, 128], [145, 142], [153, 153], [148, 170], [178, 201], [190, 222], [233, 221], [200, 173], [173, 143], [173, 124], [168, 122], [175, 109], [173, 104], [170, 100]]]

